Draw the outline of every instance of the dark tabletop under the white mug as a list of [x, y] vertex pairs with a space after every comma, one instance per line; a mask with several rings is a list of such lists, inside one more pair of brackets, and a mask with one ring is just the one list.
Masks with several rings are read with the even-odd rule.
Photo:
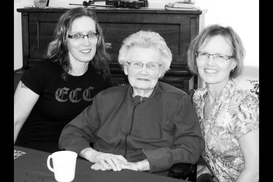
[[[14, 160], [14, 182], [56, 182], [54, 173], [47, 168], [50, 153], [14, 146], [14, 150], [26, 152]], [[121, 171], [94, 171], [92, 163], [77, 158], [73, 182], [184, 182], [181, 179], [122, 169]], [[51, 163], [52, 167], [52, 163]]]

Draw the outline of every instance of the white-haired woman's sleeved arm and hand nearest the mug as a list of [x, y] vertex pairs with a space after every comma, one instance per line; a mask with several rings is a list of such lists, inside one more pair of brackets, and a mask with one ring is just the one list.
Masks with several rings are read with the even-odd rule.
[[[89, 106], [80, 115], [68, 123], [61, 133], [59, 148], [76, 152], [80, 157], [101, 165], [101, 170], [113, 169], [120, 171], [121, 165], [128, 165], [121, 155], [98, 152], [90, 147], [96, 141], [94, 136], [100, 126], [100, 118], [96, 107], [97, 99], [93, 100], [93, 107]], [[94, 168], [98, 170], [97, 168]]]

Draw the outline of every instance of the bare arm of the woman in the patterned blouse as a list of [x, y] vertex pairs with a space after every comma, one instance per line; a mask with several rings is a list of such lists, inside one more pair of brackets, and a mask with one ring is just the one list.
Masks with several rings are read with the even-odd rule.
[[245, 168], [236, 182], [259, 181], [259, 128], [240, 137], [239, 144], [245, 161]]

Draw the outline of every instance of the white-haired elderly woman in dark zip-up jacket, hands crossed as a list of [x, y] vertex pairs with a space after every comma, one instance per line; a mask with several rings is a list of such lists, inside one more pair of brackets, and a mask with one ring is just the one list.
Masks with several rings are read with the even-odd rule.
[[174, 163], [196, 163], [204, 143], [191, 98], [158, 81], [171, 56], [156, 32], [126, 38], [119, 63], [130, 84], [97, 94], [92, 106], [63, 129], [59, 147], [95, 163], [94, 170], [166, 175]]

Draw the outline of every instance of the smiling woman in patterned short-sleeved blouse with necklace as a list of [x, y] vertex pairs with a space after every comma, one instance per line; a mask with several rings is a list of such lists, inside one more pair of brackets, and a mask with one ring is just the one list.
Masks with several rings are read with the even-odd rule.
[[232, 79], [244, 56], [240, 37], [220, 25], [206, 27], [188, 50], [190, 70], [206, 84], [193, 95], [207, 164], [198, 175], [211, 171], [221, 182], [259, 181], [259, 100]]

